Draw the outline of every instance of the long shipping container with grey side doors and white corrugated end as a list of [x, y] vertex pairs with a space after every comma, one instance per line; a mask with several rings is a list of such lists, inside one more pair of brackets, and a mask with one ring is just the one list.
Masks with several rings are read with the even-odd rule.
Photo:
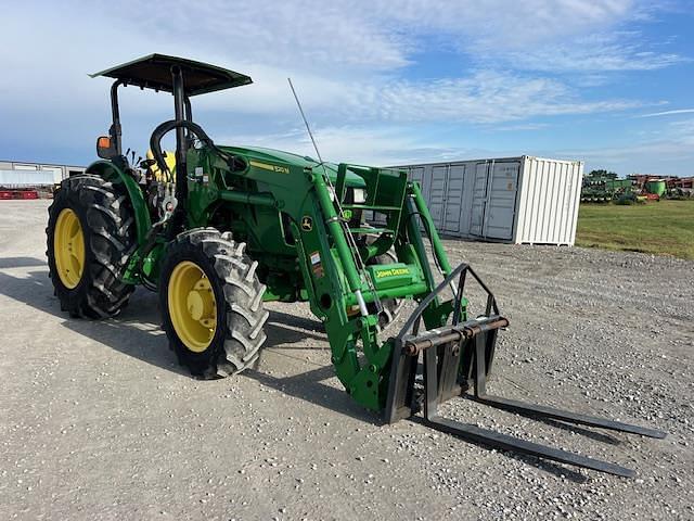
[[420, 183], [442, 234], [574, 244], [582, 162], [523, 155], [394, 168]]

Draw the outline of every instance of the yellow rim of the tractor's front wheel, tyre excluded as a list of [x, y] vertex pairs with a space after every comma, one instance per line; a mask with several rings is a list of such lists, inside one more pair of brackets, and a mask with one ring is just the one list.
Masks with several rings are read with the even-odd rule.
[[205, 272], [195, 263], [183, 260], [171, 271], [168, 288], [171, 323], [185, 347], [205, 351], [217, 330], [217, 301]]

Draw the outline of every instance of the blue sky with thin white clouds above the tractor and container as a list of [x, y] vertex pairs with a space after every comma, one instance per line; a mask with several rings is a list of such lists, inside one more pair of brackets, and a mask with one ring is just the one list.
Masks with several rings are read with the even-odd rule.
[[[542, 155], [620, 175], [694, 175], [694, 2], [343, 0], [13, 2], [0, 46], [0, 158], [87, 164], [107, 79], [152, 52], [249, 74], [194, 99], [219, 143], [312, 153], [291, 76], [332, 161]], [[166, 94], [126, 89], [145, 151]]]

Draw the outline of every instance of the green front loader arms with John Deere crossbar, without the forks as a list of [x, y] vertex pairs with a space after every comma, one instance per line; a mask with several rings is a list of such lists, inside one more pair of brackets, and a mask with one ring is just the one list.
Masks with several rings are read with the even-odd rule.
[[[347, 175], [363, 179], [363, 201], [346, 202]], [[340, 164], [335, 182], [319, 166], [306, 171], [313, 205], [312, 227], [301, 229], [306, 216], [296, 218], [299, 266], [311, 295], [311, 308], [322, 317], [327, 332], [335, 372], [347, 393], [364, 407], [383, 411], [390, 378], [393, 340], [378, 331], [377, 303], [383, 298], [421, 301], [434, 285], [417, 215], [429, 221], [421, 192], [403, 171]], [[333, 195], [334, 193], [334, 195]], [[385, 216], [381, 228], [354, 219], [358, 212]], [[299, 223], [297, 226], [296, 223]], [[429, 225], [430, 226], [430, 225]], [[440, 246], [434, 231], [432, 240]], [[355, 247], [356, 237], [377, 236], [371, 245]], [[367, 266], [369, 258], [395, 247], [397, 262]], [[442, 247], [435, 247], [437, 263], [449, 269]], [[460, 303], [464, 314], [464, 303]], [[446, 322], [450, 303], [430, 302], [425, 314], [428, 328]]]

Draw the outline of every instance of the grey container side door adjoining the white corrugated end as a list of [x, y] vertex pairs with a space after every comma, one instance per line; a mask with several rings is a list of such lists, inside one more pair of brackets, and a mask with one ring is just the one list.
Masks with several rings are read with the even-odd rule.
[[518, 162], [494, 163], [491, 169], [484, 227], [489, 239], [513, 238], [519, 169]]

